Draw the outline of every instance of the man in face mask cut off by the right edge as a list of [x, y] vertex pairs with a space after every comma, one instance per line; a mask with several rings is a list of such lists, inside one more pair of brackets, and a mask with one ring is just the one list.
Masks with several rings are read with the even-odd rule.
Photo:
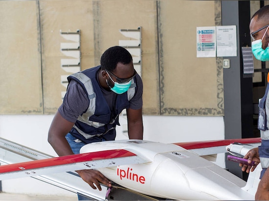
[[[269, 5], [262, 7], [251, 18], [250, 36], [251, 48], [257, 60], [269, 61]], [[269, 77], [268, 77], [269, 81]], [[261, 162], [261, 181], [255, 195], [255, 200], [269, 200], [269, 84], [267, 84], [264, 97], [259, 102], [258, 129], [261, 130], [262, 143], [258, 148], [251, 149], [245, 159], [248, 163], [256, 161], [254, 166], [243, 165], [242, 171], [253, 171]]]

